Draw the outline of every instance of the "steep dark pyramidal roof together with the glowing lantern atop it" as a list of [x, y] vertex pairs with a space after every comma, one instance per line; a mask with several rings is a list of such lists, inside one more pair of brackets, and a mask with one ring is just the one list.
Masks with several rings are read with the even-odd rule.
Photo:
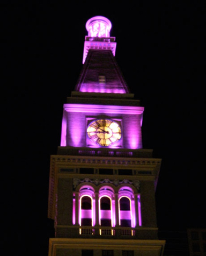
[[112, 25], [105, 17], [95, 16], [86, 23], [83, 69], [75, 91], [83, 93], [130, 93], [114, 58], [116, 42], [110, 37]]

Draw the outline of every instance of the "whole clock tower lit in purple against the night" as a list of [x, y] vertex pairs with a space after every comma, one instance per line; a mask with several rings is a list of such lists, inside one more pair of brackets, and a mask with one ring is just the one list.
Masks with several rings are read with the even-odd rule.
[[111, 22], [86, 23], [83, 69], [63, 106], [50, 158], [49, 256], [157, 256], [155, 190], [161, 159], [142, 148], [143, 106], [115, 61]]

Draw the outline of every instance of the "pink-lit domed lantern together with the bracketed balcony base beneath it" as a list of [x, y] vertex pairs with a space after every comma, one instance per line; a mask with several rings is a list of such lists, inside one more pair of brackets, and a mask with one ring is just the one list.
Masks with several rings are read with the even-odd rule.
[[115, 56], [116, 42], [115, 37], [111, 37], [109, 32], [112, 28], [111, 22], [102, 16], [95, 16], [86, 22], [88, 35], [85, 37], [83, 64], [90, 49], [109, 50]]

